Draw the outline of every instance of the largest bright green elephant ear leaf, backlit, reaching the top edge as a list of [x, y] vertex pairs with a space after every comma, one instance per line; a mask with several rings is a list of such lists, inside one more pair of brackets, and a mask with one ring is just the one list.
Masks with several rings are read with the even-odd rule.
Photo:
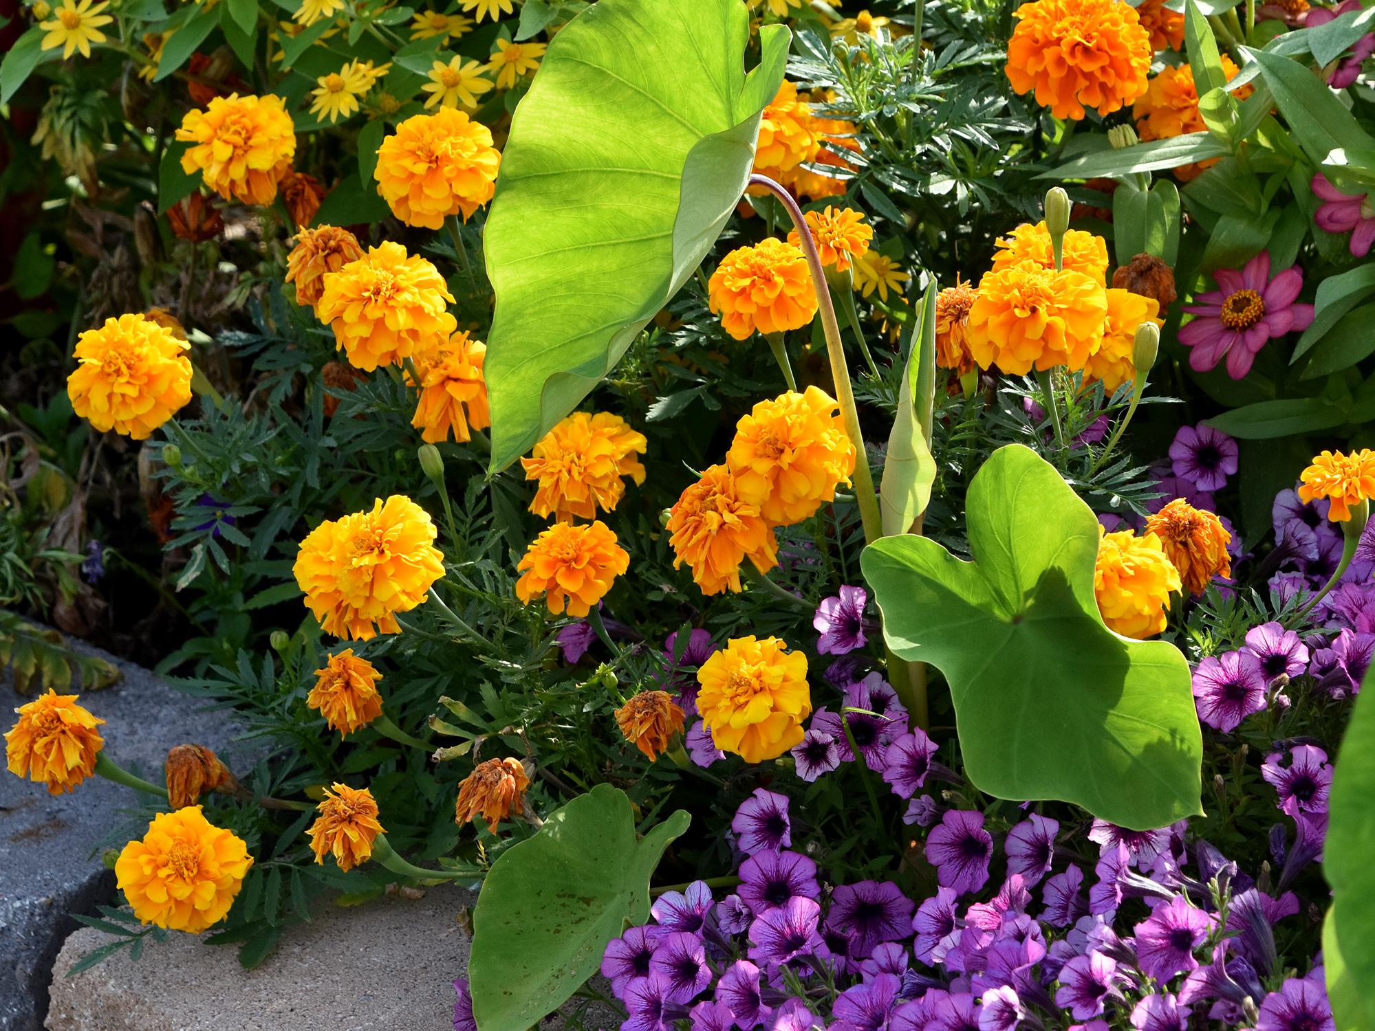
[[740, 0], [600, 0], [516, 109], [487, 220], [492, 462], [528, 451], [610, 371], [715, 243], [749, 180], [789, 33], [744, 70]]

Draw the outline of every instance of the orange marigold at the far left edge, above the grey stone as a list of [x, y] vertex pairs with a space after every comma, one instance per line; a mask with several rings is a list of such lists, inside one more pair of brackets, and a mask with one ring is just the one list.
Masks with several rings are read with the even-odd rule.
[[78, 697], [50, 687], [15, 709], [19, 719], [4, 735], [10, 773], [48, 785], [50, 795], [69, 792], [92, 774], [104, 748], [96, 727], [104, 720], [77, 705]]

